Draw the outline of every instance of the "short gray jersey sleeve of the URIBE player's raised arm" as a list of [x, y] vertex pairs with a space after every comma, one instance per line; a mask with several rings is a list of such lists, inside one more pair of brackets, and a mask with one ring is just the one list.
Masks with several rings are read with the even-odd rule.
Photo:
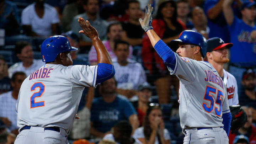
[[70, 79], [78, 87], [96, 87], [97, 67], [97, 65], [74, 65], [70, 69]]

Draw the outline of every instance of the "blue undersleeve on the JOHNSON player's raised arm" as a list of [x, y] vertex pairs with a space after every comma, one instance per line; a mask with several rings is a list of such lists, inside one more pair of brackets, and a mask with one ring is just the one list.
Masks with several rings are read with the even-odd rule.
[[155, 44], [154, 49], [164, 64], [174, 70], [176, 65], [175, 53], [161, 39]]

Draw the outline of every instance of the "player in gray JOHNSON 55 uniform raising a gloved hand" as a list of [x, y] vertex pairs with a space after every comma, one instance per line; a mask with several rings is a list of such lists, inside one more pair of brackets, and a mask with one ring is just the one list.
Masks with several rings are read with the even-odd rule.
[[180, 123], [184, 144], [228, 144], [231, 114], [226, 86], [213, 66], [202, 61], [207, 41], [195, 31], [183, 31], [171, 41], [173, 52], [151, 26], [153, 7], [148, 4], [140, 25], [152, 46], [167, 65], [170, 74], [180, 80]]

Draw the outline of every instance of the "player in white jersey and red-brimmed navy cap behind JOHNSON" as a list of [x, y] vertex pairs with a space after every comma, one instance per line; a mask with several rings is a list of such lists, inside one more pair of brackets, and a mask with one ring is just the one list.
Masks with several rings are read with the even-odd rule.
[[228, 50], [233, 43], [224, 43], [221, 38], [213, 37], [207, 40], [206, 59], [215, 68], [226, 85], [229, 106], [238, 105], [238, 86], [236, 79], [228, 71], [223, 69], [225, 63], [229, 62]]

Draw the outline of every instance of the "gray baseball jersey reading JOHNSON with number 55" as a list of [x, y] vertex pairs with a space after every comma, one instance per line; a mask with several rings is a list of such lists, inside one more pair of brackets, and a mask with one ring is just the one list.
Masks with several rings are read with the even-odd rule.
[[171, 75], [180, 80], [180, 123], [188, 127], [221, 127], [222, 114], [230, 112], [226, 86], [213, 66], [175, 53]]

